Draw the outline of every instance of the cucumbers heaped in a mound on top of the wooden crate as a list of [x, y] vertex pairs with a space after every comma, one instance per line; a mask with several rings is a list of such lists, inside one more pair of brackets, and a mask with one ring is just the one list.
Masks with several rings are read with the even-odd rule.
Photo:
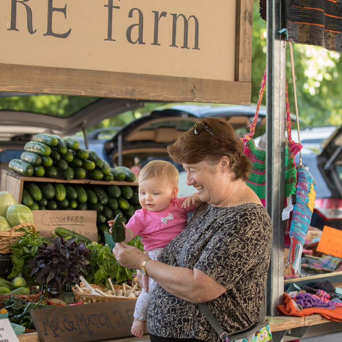
[[128, 168], [111, 168], [96, 152], [83, 149], [72, 137], [37, 134], [32, 140], [25, 144], [21, 159], [9, 162], [9, 168], [23, 176], [135, 181], [135, 174]]

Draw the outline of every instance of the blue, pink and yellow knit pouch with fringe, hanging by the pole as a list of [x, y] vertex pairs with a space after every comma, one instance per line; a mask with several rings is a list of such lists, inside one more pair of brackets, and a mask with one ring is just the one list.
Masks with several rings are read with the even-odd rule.
[[297, 167], [296, 203], [292, 212], [291, 245], [286, 263], [286, 275], [300, 272], [300, 257], [314, 211], [315, 198], [316, 181], [304, 165], [299, 165]]

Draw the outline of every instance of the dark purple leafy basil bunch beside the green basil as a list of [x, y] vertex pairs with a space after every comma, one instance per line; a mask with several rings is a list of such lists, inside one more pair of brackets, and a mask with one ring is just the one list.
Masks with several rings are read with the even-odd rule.
[[50, 244], [39, 246], [36, 256], [28, 263], [32, 267], [31, 277], [37, 275], [40, 284], [56, 280], [60, 286], [71, 283], [79, 284], [81, 272], [87, 274], [91, 268], [89, 250], [84, 242], [75, 239], [64, 240], [55, 237]]

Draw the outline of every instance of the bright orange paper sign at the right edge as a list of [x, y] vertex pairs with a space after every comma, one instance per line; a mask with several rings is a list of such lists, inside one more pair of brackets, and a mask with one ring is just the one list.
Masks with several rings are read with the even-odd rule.
[[342, 258], [342, 231], [324, 226], [317, 251]]

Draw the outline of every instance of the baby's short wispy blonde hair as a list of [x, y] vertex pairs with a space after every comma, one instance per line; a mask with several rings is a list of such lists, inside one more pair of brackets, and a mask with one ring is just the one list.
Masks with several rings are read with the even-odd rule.
[[170, 162], [153, 160], [146, 164], [140, 171], [139, 183], [152, 177], [165, 177], [172, 189], [178, 188], [178, 170]]

